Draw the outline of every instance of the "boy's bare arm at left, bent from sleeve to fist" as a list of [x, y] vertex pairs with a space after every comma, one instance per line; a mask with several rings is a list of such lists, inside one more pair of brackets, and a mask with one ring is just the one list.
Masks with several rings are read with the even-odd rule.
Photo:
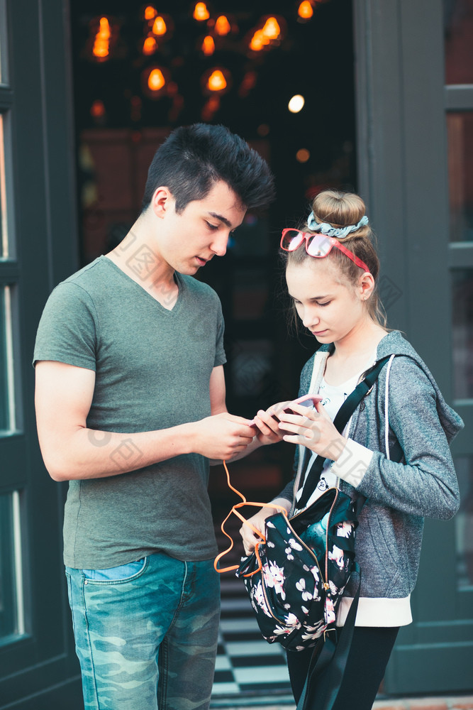
[[[87, 428], [95, 373], [55, 361], [36, 364], [35, 407], [45, 466], [55, 481], [116, 476], [179, 454], [230, 459], [252, 441], [247, 420], [226, 412], [169, 429], [118, 433]], [[133, 456], [117, 456], [129, 446]]]

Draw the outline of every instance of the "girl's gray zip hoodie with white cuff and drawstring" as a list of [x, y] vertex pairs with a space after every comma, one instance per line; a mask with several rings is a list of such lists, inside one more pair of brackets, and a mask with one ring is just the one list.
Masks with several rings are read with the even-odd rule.
[[[333, 345], [323, 345], [306, 363], [299, 395], [318, 391], [331, 351]], [[460, 496], [449, 444], [463, 422], [399, 332], [379, 342], [377, 360], [386, 355], [394, 357], [352, 415], [345, 430], [348, 443], [333, 472], [342, 491], [367, 498], [355, 542], [361, 596], [400, 599], [416, 584], [423, 518], [448, 520], [457, 512]], [[394, 455], [396, 442], [402, 454]], [[296, 462], [303, 458], [301, 450]], [[300, 476], [299, 470], [281, 497], [294, 500]], [[347, 587], [348, 596], [353, 586]]]

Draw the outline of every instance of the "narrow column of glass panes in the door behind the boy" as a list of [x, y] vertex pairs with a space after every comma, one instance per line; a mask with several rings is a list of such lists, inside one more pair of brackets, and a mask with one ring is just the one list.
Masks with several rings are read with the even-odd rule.
[[[0, 11], [5, 16], [4, 4]], [[18, 428], [18, 261], [11, 218], [11, 105], [6, 35], [0, 31], [0, 646], [25, 633], [21, 555], [21, 498], [25, 484], [23, 436]]]

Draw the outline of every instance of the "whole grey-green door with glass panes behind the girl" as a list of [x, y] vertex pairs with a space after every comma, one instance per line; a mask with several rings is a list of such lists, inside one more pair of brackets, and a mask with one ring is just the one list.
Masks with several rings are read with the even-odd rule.
[[392, 694], [471, 689], [473, 667], [473, 0], [355, 3], [360, 189], [406, 334], [465, 428], [452, 442], [460, 512], [425, 519], [384, 682]]

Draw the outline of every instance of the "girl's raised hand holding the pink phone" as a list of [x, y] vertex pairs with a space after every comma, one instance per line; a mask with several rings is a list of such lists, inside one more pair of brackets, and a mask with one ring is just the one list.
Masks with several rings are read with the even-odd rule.
[[323, 405], [318, 402], [316, 408], [308, 410], [293, 403], [291, 410], [294, 414], [282, 411], [278, 415], [279, 429], [284, 430], [285, 434], [284, 441], [302, 444], [320, 456], [337, 461], [347, 439], [335, 429]]

